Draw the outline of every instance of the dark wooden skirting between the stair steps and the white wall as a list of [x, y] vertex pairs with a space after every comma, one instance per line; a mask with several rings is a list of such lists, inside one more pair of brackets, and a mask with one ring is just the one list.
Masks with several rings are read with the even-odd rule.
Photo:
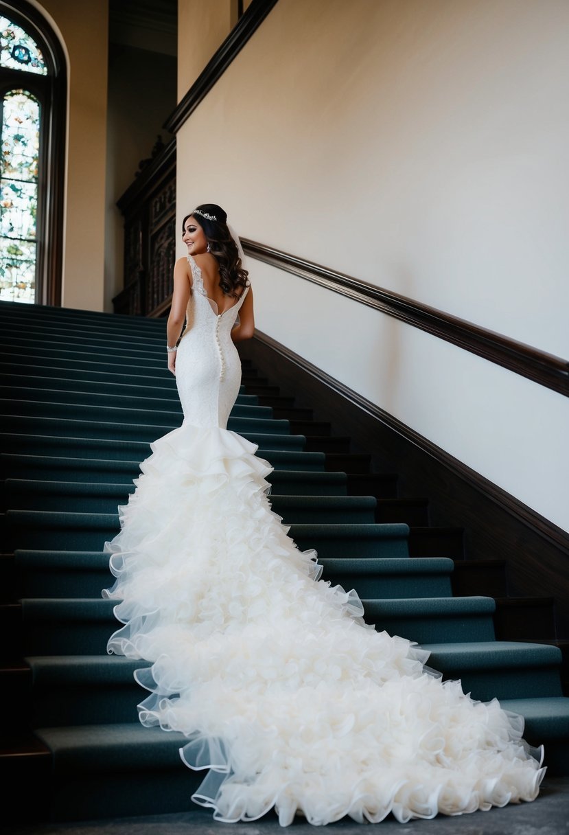
[[432, 525], [463, 528], [466, 559], [506, 559], [510, 595], [553, 597], [557, 637], [569, 637], [569, 534], [263, 333], [239, 353], [370, 453], [375, 472], [397, 473], [400, 497], [429, 498]]

